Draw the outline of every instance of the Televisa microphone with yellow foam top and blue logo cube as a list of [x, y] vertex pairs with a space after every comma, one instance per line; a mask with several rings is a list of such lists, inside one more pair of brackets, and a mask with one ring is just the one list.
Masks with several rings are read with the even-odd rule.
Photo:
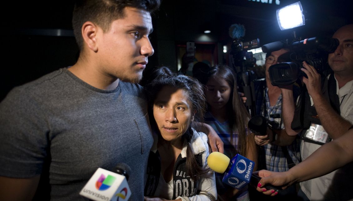
[[[241, 156], [240, 154], [235, 155], [231, 160], [225, 154], [212, 152], [207, 158], [207, 164], [211, 170], [221, 174], [224, 173], [222, 179], [223, 183], [226, 183], [235, 189], [241, 189], [249, 183], [256, 187], [261, 179], [261, 177], [255, 173], [252, 173], [255, 162]], [[277, 192], [279, 191], [273, 185], [267, 184], [264, 187], [267, 190], [272, 189]]]

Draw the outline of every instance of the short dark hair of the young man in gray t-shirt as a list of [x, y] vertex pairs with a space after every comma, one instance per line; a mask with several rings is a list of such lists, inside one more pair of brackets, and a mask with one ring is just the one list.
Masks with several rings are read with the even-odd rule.
[[78, 47], [83, 49], [81, 28], [85, 22], [93, 22], [106, 32], [114, 20], [125, 17], [125, 7], [151, 13], [158, 9], [160, 3], [161, 0], [77, 0], [72, 14], [72, 27]]

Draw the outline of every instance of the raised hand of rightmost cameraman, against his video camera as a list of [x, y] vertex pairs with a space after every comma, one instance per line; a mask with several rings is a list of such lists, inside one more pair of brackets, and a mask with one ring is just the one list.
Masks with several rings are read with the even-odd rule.
[[302, 80], [306, 85], [309, 95], [314, 98], [315, 96], [321, 95], [321, 75], [316, 71], [316, 69], [303, 61], [303, 66], [301, 68], [308, 78], [303, 77]]

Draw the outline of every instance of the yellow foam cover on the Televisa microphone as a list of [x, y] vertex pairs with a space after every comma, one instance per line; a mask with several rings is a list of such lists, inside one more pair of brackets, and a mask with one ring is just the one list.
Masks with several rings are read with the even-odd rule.
[[226, 171], [229, 165], [229, 159], [225, 154], [221, 152], [212, 152], [207, 158], [208, 166], [215, 172], [223, 173]]

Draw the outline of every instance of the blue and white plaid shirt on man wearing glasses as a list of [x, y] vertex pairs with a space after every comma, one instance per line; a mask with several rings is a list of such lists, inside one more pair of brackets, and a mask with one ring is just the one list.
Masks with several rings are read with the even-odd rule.
[[[263, 83], [262, 83], [263, 84]], [[257, 114], [263, 115], [265, 118], [269, 119], [270, 121], [275, 121], [280, 124], [280, 127], [284, 129], [283, 122], [281, 121], [281, 113], [282, 113], [282, 94], [279, 96], [276, 104], [274, 106], [270, 105], [270, 100], [268, 97], [268, 88], [265, 85], [263, 87], [258, 87], [256, 96], [256, 109]], [[262, 89], [261, 89], [262, 88]], [[300, 90], [298, 87], [293, 87], [293, 95], [294, 98], [298, 97], [300, 94]], [[275, 117], [275, 118], [273, 118]], [[277, 118], [278, 117], [278, 118]], [[297, 135], [295, 140], [292, 142], [291, 145], [287, 146], [287, 150], [289, 156], [292, 158], [295, 164], [300, 162], [300, 138]], [[282, 147], [274, 144], [267, 144], [264, 146], [265, 154], [266, 154], [266, 168], [270, 171], [275, 172], [284, 172], [289, 170], [287, 158], [283, 154]]]

